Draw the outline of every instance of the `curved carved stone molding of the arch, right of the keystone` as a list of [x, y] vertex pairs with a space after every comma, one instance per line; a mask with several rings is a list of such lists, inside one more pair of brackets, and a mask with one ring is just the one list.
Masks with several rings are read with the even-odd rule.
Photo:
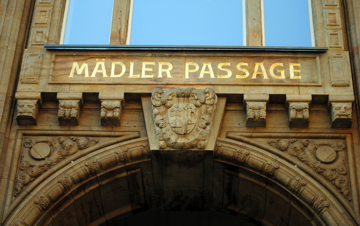
[[[232, 139], [235, 138], [234, 135], [228, 137], [231, 137]], [[239, 137], [240, 136], [237, 136], [236, 138]], [[319, 189], [318, 183], [320, 181], [316, 182], [318, 178], [309, 176], [307, 172], [299, 170], [299, 167], [294, 167], [294, 165], [292, 165], [286, 158], [277, 158], [276, 153], [274, 152], [264, 152], [262, 146], [265, 146], [266, 144], [261, 145], [260, 147], [259, 145], [254, 145], [256, 141], [249, 142], [251, 139], [248, 138], [236, 140], [242, 141], [238, 142], [218, 138], [214, 160], [250, 169], [258, 172], [259, 175], [264, 175], [270, 180], [277, 181], [278, 184], [293, 193], [295, 198], [300, 199], [304, 205], [306, 205], [309, 209], [312, 209], [313, 214], [319, 216], [319, 218], [324, 221], [325, 225], [332, 225], [336, 222], [338, 225], [353, 226], [359, 222], [359, 218], [355, 214], [354, 209], [351, 207], [349, 209], [346, 208], [349, 204], [344, 207], [357, 223], [354, 222], [354, 224], [352, 224], [349, 221], [349, 218], [351, 217], [345, 216], [346, 214], [344, 213], [346, 210], [341, 209], [341, 207], [339, 208], [340, 205], [338, 204], [338, 200], [328, 198], [331, 196], [328, 190]], [[248, 142], [243, 143], [244, 141]], [[249, 145], [250, 143], [251, 145]], [[267, 149], [271, 148], [273, 147]], [[242, 153], [246, 153], [244, 157], [243, 154], [239, 155], [239, 150], [242, 150]], [[234, 156], [240, 156], [240, 158], [234, 158]], [[232, 176], [240, 176], [240, 173], [225, 169], [223, 203], [224, 207], [227, 209], [239, 211], [236, 204], [232, 203]]]

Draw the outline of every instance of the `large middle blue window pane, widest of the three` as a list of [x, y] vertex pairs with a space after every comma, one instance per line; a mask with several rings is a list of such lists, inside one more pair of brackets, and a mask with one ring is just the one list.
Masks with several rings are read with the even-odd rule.
[[243, 45], [242, 0], [134, 0], [131, 45]]

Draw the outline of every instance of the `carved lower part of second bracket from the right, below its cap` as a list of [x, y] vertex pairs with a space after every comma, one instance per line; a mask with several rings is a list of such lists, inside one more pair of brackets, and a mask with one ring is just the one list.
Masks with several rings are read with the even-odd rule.
[[309, 103], [289, 103], [289, 127], [302, 127], [309, 126]]

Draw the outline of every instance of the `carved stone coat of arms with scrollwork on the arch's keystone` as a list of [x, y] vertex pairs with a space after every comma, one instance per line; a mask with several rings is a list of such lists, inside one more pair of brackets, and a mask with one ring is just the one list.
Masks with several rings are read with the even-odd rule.
[[205, 149], [217, 96], [214, 89], [173, 88], [152, 91], [152, 113], [160, 149]]

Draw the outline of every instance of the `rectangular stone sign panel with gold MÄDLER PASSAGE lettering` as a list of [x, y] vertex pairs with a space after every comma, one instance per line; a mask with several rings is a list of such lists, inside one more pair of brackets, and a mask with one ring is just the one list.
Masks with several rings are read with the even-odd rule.
[[321, 85], [318, 56], [55, 56], [49, 83]]

